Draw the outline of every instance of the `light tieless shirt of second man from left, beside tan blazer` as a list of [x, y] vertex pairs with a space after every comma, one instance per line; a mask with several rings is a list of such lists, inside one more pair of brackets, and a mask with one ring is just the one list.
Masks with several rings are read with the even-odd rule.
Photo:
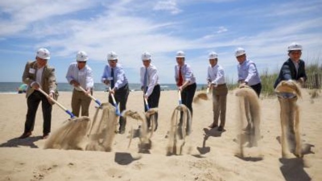
[[[71, 63], [66, 74], [66, 79], [69, 83], [72, 80], [77, 81], [85, 90], [92, 89], [94, 87], [93, 71], [88, 65], [83, 69], [79, 69], [77, 62]], [[75, 87], [75, 89], [81, 91], [77, 87]]]

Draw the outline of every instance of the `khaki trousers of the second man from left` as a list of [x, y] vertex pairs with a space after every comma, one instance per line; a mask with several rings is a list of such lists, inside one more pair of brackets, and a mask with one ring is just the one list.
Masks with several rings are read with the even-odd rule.
[[[91, 91], [91, 94], [93, 92]], [[82, 108], [82, 116], [89, 116], [89, 107], [91, 104], [91, 98], [82, 91], [73, 90], [72, 96], [72, 112], [75, 116], [79, 117], [80, 109]]]

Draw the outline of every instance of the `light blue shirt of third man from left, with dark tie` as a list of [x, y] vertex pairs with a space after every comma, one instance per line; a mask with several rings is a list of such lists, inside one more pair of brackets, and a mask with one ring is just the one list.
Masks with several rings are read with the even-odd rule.
[[114, 77], [111, 77], [110, 65], [105, 65], [101, 81], [104, 83], [104, 80], [109, 80], [110, 82], [111, 80], [114, 80], [114, 87], [116, 89], [119, 89], [128, 83], [128, 79], [125, 76], [123, 67], [119, 63], [117, 63], [116, 67], [114, 67]]

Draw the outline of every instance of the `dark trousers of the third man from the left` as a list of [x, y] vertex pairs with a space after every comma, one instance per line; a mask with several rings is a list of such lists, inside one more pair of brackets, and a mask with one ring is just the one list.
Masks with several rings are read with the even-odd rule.
[[[129, 93], [130, 90], [128, 84], [115, 91], [114, 98], [116, 104], [120, 104], [120, 113], [126, 109], [126, 102], [128, 101]], [[109, 95], [109, 102], [113, 105], [113, 99], [111, 95]], [[120, 116], [120, 130], [125, 130], [125, 125], [126, 117]]]

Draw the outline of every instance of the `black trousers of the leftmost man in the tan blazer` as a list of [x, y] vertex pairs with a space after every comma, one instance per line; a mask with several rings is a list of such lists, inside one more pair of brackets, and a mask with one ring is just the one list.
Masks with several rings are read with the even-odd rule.
[[44, 134], [50, 133], [53, 106], [49, 103], [47, 97], [37, 90], [35, 90], [27, 98], [28, 111], [27, 111], [26, 122], [25, 122], [25, 131], [24, 131], [25, 133], [32, 132], [34, 130], [36, 112], [40, 101], [42, 101], [43, 119], [44, 119], [43, 133]]

